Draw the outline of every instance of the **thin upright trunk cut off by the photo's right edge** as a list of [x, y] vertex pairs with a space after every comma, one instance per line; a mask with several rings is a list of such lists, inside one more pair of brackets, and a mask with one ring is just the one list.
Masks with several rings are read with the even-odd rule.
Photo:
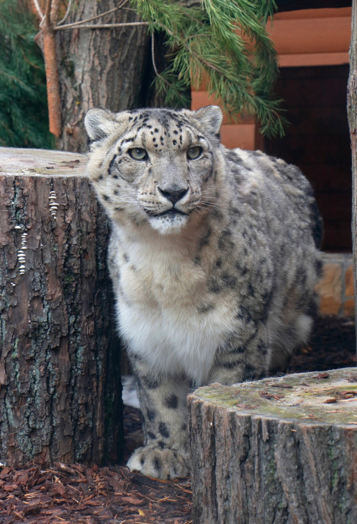
[[[352, 0], [350, 76], [347, 89], [347, 114], [352, 149], [352, 252], [354, 293], [357, 289], [357, 0]], [[357, 325], [357, 308], [354, 308]], [[357, 348], [356, 348], [357, 351]]]

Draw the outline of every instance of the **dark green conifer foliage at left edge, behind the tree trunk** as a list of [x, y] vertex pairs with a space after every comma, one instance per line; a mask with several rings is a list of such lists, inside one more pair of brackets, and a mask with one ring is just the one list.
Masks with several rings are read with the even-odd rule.
[[0, 0], [0, 146], [54, 146], [36, 32], [23, 0]]

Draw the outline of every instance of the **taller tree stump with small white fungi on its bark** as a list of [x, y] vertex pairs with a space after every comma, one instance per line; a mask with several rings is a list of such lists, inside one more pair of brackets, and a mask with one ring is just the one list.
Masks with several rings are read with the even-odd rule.
[[0, 461], [122, 453], [109, 224], [85, 157], [0, 148]]

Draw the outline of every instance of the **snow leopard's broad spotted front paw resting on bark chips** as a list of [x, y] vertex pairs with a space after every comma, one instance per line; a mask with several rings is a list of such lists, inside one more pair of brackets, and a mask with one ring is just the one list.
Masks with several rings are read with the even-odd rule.
[[190, 457], [177, 451], [155, 446], [138, 447], [128, 460], [127, 467], [148, 477], [187, 477], [190, 474]]

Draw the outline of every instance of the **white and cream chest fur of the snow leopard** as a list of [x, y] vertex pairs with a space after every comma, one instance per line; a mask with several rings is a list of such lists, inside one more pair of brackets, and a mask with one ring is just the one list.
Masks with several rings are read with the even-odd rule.
[[[129, 352], [155, 370], [183, 372], [202, 383], [232, 330], [233, 304], [210, 296], [207, 275], [193, 262], [192, 244], [150, 234], [145, 239], [121, 234], [126, 255], [117, 303], [122, 335]], [[202, 304], [212, 299], [214, 309], [203, 313]]]

